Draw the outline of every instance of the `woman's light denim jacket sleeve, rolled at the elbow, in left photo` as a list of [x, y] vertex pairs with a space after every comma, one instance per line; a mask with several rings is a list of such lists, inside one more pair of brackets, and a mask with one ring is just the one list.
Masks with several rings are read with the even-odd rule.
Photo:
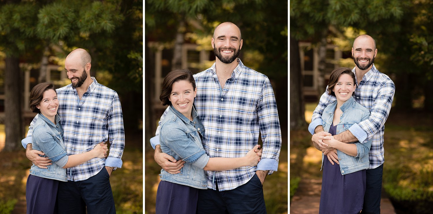
[[48, 128], [38, 125], [33, 132], [37, 134], [33, 135], [32, 144], [37, 144], [49, 160], [57, 163], [58, 160], [67, 155], [66, 151], [54, 140]]

